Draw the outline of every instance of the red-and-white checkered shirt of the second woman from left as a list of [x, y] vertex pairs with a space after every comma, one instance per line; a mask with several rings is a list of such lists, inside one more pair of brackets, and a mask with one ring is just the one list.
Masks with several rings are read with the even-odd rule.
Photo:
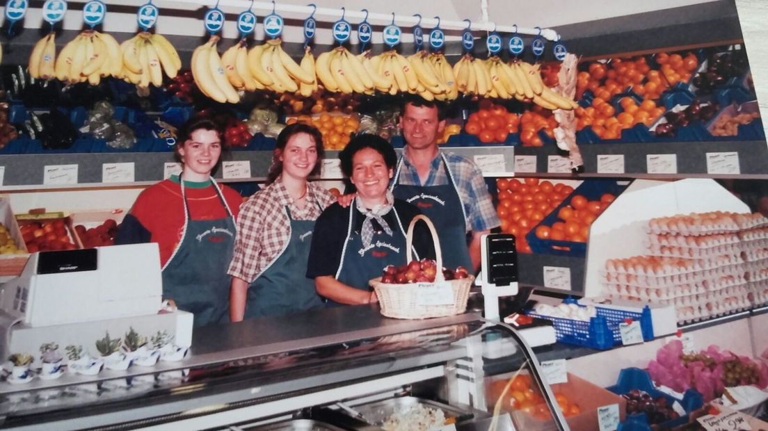
[[316, 220], [323, 209], [336, 202], [322, 186], [307, 184], [304, 209], [293, 206], [293, 199], [280, 179], [243, 202], [237, 217], [237, 239], [227, 274], [253, 282], [280, 257], [290, 241], [286, 206], [293, 219]]

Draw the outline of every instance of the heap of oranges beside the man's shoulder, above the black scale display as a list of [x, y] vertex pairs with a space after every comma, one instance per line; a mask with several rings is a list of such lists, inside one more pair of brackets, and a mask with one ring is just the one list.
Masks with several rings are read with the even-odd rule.
[[526, 178], [496, 179], [498, 207], [496, 213], [502, 222], [502, 232], [515, 235], [518, 252], [531, 253], [525, 235], [541, 222], [571, 192], [573, 187], [561, 183]]

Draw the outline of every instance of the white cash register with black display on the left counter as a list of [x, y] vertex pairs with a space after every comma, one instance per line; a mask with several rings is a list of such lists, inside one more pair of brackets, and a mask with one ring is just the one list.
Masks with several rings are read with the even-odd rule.
[[0, 357], [36, 354], [41, 344], [82, 345], [131, 328], [174, 335], [190, 346], [192, 314], [161, 311], [155, 243], [35, 252], [17, 278], [0, 286]]

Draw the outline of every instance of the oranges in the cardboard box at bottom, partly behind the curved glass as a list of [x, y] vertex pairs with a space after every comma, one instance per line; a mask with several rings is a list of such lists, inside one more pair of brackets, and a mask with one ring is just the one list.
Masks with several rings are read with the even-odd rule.
[[[501, 395], [504, 388], [509, 384], [509, 389], [501, 400], [505, 410], [521, 410], [530, 414], [538, 420], [549, 420], [551, 418], [547, 404], [541, 392], [535, 389], [531, 376], [528, 374], [518, 374], [509, 380], [498, 380], [492, 383], [492, 394]], [[498, 396], [495, 396], [498, 399]], [[564, 393], [555, 392], [554, 399], [557, 401], [563, 416], [576, 416], [581, 413], [578, 404], [568, 400]]]

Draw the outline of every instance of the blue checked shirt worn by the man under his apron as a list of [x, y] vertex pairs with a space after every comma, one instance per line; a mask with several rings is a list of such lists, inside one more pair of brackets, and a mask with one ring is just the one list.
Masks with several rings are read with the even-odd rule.
[[475, 163], [465, 157], [449, 151], [440, 151], [435, 160], [432, 160], [429, 176], [427, 176], [426, 182], [422, 184], [419, 173], [416, 172], [415, 166], [409, 162], [404, 151], [399, 183], [405, 186], [443, 186], [449, 184], [450, 180], [445, 173], [445, 164], [442, 163], [441, 153], [445, 155], [445, 161], [448, 163], [458, 190], [458, 197], [464, 205], [464, 212], [467, 215], [467, 232], [484, 231], [498, 227], [500, 223], [498, 216], [496, 216], [496, 209], [493, 207], [491, 195], [488, 193], [488, 186], [485, 185], [482, 172]]

